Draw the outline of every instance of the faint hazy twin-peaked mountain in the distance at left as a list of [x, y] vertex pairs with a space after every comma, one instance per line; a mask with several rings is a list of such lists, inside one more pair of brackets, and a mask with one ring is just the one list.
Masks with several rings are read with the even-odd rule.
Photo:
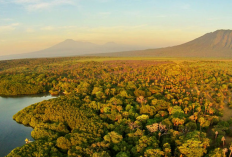
[[143, 50], [145, 47], [135, 45], [123, 45], [114, 42], [109, 42], [103, 45], [97, 45], [90, 42], [74, 41], [67, 39], [47, 49], [24, 53], [0, 56], [0, 60], [21, 59], [21, 58], [44, 58], [44, 57], [66, 57], [80, 56], [97, 53], [110, 53], [120, 51]]

